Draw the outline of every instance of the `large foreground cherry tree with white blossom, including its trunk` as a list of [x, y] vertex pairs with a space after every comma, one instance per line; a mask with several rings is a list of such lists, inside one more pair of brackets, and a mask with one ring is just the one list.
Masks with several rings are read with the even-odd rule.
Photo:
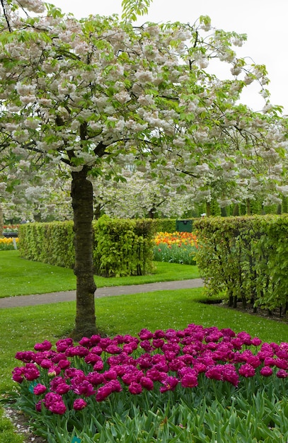
[[[78, 20], [41, 0], [1, 4], [1, 158], [64, 163], [71, 171], [72, 335], [90, 336], [96, 333], [90, 176], [108, 171], [110, 178], [118, 160], [133, 159], [137, 168], [149, 162], [152, 178], [174, 174], [203, 185], [209, 174], [234, 171], [230, 164], [243, 169], [247, 154], [253, 161], [263, 159], [263, 151], [266, 159], [278, 158], [282, 135], [271, 129], [276, 111], [268, 99], [261, 114], [236, 104], [253, 81], [267, 96], [265, 67], [238, 59], [233, 47], [246, 35], [214, 30], [207, 16], [193, 25], [133, 26], [149, 0], [123, 1], [122, 20]], [[23, 16], [23, 8], [32, 16]], [[232, 79], [207, 74], [214, 58], [231, 64]]]

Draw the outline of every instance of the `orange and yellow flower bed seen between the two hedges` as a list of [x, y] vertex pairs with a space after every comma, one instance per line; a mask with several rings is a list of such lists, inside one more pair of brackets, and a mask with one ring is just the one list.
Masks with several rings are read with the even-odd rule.
[[159, 232], [154, 237], [154, 260], [195, 265], [197, 237], [191, 232]]

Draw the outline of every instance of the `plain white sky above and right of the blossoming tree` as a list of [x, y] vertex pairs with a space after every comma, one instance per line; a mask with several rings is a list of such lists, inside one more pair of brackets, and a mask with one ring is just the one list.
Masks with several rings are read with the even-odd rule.
[[[48, 1], [79, 18], [91, 13], [108, 16], [122, 11], [121, 0]], [[243, 47], [235, 48], [236, 53], [239, 57], [250, 57], [253, 62], [266, 65], [270, 100], [273, 105], [282, 105], [284, 113], [288, 114], [288, 0], [154, 0], [149, 15], [139, 21], [192, 24], [200, 15], [209, 16], [215, 28], [248, 35]], [[259, 88], [249, 89], [242, 101], [254, 110], [261, 110], [264, 102], [258, 95]]]

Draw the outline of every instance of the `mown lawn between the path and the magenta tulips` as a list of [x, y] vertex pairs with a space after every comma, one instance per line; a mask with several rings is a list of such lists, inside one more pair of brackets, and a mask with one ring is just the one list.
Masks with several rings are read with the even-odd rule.
[[[261, 340], [287, 341], [288, 324], [250, 316], [217, 304], [203, 304], [202, 289], [149, 292], [96, 300], [97, 324], [108, 335], [139, 333], [142, 328], [185, 328], [189, 323], [202, 326], [246, 330]], [[0, 392], [11, 389], [11, 370], [18, 362], [14, 355], [32, 350], [35, 343], [55, 343], [74, 326], [75, 302], [2, 309], [0, 322]]]

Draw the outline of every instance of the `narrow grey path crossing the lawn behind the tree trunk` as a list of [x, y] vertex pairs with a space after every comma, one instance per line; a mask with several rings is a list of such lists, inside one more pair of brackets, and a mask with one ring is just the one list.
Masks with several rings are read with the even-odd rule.
[[[100, 287], [96, 290], [96, 299], [126, 294], [139, 294], [142, 292], [172, 291], [175, 289], [191, 289], [202, 287], [200, 278], [191, 280], [177, 280], [173, 282], [158, 282], [146, 284], [131, 284], [129, 286]], [[34, 306], [37, 304], [57, 303], [58, 301], [76, 300], [76, 291], [52, 292], [51, 294], [18, 295], [0, 299], [0, 309], [16, 308], [21, 306]]]

